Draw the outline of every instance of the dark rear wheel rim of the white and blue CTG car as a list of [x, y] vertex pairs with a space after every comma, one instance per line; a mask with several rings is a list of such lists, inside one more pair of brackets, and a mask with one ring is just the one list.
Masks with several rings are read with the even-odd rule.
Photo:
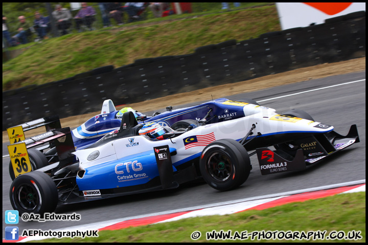
[[40, 203], [38, 191], [29, 184], [22, 185], [18, 189], [17, 197], [20, 207], [27, 211], [35, 210]]

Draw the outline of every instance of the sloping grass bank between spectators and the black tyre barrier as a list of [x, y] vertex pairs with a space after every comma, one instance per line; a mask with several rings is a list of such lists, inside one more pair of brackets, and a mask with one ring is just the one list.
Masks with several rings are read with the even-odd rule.
[[203, 45], [281, 30], [274, 5], [150, 21], [33, 43], [3, 63], [3, 91], [58, 81], [105, 65], [117, 68], [136, 59], [191, 54]]

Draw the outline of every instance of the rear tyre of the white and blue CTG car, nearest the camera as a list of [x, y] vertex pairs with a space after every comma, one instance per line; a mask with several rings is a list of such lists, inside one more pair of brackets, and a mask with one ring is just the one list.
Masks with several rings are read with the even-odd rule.
[[18, 176], [10, 186], [10, 203], [22, 213], [53, 212], [58, 203], [58, 191], [50, 176], [32, 171]]

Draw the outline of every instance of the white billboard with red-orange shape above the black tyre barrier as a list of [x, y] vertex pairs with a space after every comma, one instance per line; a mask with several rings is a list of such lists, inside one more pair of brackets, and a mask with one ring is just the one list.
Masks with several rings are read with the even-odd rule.
[[281, 29], [308, 27], [325, 19], [365, 11], [365, 3], [276, 3]]

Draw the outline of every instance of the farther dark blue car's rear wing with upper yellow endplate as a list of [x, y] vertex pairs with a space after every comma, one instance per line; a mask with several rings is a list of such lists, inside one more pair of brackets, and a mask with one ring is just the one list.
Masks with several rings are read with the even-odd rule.
[[38, 118], [33, 121], [25, 122], [7, 129], [9, 141], [11, 144], [25, 140], [25, 131], [45, 126], [46, 131], [49, 132], [52, 129], [60, 129], [60, 119], [58, 115], [46, 116]]

